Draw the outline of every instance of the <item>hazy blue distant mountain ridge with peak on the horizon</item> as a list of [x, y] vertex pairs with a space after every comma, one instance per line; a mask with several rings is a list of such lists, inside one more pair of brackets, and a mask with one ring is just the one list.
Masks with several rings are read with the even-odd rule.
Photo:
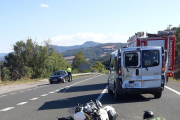
[[57, 45], [51, 45], [53, 48], [55, 48], [56, 51], [58, 52], [65, 52], [67, 50], [72, 50], [72, 49], [77, 49], [77, 48], [84, 48], [84, 47], [92, 47], [92, 46], [96, 46], [102, 43], [97, 43], [97, 42], [93, 42], [93, 41], [87, 41], [82, 45], [74, 45], [74, 46], [57, 46]]

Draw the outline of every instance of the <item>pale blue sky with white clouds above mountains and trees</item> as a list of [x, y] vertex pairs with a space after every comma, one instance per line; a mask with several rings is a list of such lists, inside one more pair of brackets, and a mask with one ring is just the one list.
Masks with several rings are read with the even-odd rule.
[[59, 46], [126, 42], [180, 25], [179, 0], [1, 0], [0, 53], [28, 37]]

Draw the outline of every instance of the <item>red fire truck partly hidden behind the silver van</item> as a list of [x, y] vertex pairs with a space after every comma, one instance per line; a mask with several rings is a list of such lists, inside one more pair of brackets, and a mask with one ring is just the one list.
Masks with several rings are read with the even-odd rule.
[[[165, 81], [168, 77], [174, 76], [174, 62], [175, 62], [175, 31], [158, 31], [157, 34], [137, 32], [127, 40], [126, 47], [140, 47], [140, 46], [160, 46], [164, 48], [165, 52]], [[168, 55], [168, 56], [167, 56]], [[166, 83], [165, 83], [166, 84]]]

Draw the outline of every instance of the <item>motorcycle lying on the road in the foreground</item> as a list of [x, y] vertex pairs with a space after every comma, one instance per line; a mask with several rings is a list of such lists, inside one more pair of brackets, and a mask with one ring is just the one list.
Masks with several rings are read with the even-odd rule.
[[69, 117], [58, 118], [58, 120], [116, 120], [119, 114], [112, 106], [103, 108], [100, 101], [86, 103], [68, 109]]

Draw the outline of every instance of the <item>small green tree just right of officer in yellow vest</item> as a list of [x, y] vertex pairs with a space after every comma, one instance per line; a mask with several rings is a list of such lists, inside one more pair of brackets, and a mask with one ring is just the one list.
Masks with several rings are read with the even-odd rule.
[[84, 58], [83, 52], [79, 51], [78, 53], [75, 54], [75, 57], [73, 58], [72, 62], [72, 69], [79, 69], [79, 65], [82, 64], [83, 62], [87, 62], [86, 59]]

